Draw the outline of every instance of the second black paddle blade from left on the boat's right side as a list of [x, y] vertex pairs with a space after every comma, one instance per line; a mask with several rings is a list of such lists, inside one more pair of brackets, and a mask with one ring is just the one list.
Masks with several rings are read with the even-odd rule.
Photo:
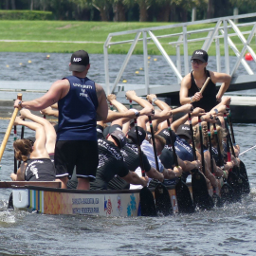
[[158, 183], [155, 187], [155, 207], [157, 213], [161, 213], [164, 216], [174, 213], [170, 194], [166, 187], [161, 183]]

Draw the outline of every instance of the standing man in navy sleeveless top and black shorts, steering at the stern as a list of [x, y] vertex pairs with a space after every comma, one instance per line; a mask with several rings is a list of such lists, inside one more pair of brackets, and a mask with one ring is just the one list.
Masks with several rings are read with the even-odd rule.
[[[101, 85], [86, 76], [89, 55], [84, 50], [72, 54], [72, 76], [54, 82], [48, 92], [33, 101], [15, 101], [14, 107], [41, 110], [58, 102], [59, 126], [55, 148], [56, 177], [66, 188], [76, 166], [79, 190], [88, 190], [99, 162], [96, 121], [106, 119], [108, 105]], [[84, 164], [85, 163], [85, 164]]]

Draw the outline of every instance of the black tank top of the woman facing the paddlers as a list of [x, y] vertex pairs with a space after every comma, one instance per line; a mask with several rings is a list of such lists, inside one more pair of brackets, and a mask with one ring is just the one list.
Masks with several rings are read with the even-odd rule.
[[[207, 78], [210, 77], [209, 70], [206, 70], [206, 74], [207, 74]], [[189, 89], [189, 97], [192, 97], [195, 93], [200, 91], [200, 89], [198, 89], [198, 87], [196, 86], [196, 83], [194, 82], [192, 73], [191, 73], [191, 77], [192, 77], [192, 85], [191, 85], [191, 88]], [[216, 94], [217, 94], [216, 84], [210, 80], [206, 89], [204, 90], [203, 98], [200, 101], [192, 102], [192, 106], [194, 108], [201, 107], [206, 112], [209, 112], [210, 109], [212, 109], [217, 104]]]

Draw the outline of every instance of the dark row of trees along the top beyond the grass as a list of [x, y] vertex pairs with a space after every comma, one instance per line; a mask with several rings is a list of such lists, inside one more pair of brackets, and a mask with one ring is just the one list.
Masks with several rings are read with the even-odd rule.
[[255, 0], [0, 0], [0, 9], [49, 10], [57, 20], [190, 21], [256, 11]]

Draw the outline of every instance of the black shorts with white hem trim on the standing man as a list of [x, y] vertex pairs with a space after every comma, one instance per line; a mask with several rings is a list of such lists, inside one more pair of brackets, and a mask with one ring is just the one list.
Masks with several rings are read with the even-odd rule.
[[57, 178], [72, 176], [76, 166], [78, 178], [90, 178], [92, 181], [99, 164], [98, 142], [59, 140], [55, 146], [54, 164]]

